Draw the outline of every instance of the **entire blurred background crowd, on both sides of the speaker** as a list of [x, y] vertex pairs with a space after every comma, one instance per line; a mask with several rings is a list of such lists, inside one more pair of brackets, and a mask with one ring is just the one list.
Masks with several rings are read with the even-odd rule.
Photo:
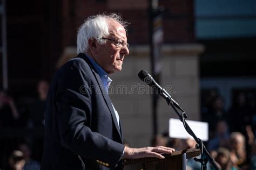
[[[43, 151], [41, 135], [29, 133], [10, 136], [11, 130], [44, 129], [45, 102], [49, 84], [37, 84], [37, 96], [16, 104], [6, 91], [0, 90], [0, 149], [1, 169], [40, 169]], [[237, 93], [234, 102], [225, 110], [224, 98], [209, 91], [201, 103], [201, 120], [209, 124], [209, 140], [204, 143], [222, 169], [256, 169], [256, 100], [252, 94]], [[18, 136], [16, 138], [16, 136]], [[169, 146], [176, 150], [194, 148], [193, 139], [174, 139], [169, 133], [151, 140], [152, 146]], [[207, 165], [211, 169], [210, 165]], [[201, 169], [198, 162], [187, 160], [187, 169]]]

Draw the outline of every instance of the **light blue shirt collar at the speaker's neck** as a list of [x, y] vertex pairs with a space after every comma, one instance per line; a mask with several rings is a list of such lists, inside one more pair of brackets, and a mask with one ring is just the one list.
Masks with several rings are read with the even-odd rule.
[[105, 72], [105, 70], [102, 67], [100, 67], [98, 65], [98, 63], [95, 60], [92, 59], [92, 57], [89, 54], [85, 54], [85, 55], [87, 56], [87, 58], [89, 58], [89, 60], [91, 61], [93, 67], [95, 67], [96, 72], [99, 74], [99, 77], [100, 77], [100, 79], [103, 82], [104, 88], [106, 89], [106, 91], [108, 91], [110, 83], [112, 81], [110, 79], [109, 75]]

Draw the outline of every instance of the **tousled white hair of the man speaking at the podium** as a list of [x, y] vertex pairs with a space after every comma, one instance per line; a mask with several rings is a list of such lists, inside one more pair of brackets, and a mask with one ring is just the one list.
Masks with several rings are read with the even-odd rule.
[[88, 51], [89, 39], [96, 39], [99, 43], [104, 44], [106, 40], [102, 37], [109, 36], [109, 20], [114, 20], [121, 24], [125, 31], [129, 24], [125, 22], [121, 16], [116, 13], [110, 15], [99, 14], [88, 17], [85, 22], [79, 27], [77, 33], [77, 53], [85, 53]]

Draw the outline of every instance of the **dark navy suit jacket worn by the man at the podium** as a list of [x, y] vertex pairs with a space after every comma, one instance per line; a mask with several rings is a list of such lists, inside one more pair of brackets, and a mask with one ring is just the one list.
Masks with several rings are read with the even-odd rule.
[[41, 169], [122, 169], [122, 134], [112, 102], [85, 54], [53, 77]]

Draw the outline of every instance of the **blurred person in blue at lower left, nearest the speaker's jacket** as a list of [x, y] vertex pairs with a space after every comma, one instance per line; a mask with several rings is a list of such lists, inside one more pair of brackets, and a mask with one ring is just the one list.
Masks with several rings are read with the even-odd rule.
[[24, 170], [40, 170], [40, 163], [31, 158], [31, 149], [29, 145], [21, 143], [18, 148], [24, 154]]

